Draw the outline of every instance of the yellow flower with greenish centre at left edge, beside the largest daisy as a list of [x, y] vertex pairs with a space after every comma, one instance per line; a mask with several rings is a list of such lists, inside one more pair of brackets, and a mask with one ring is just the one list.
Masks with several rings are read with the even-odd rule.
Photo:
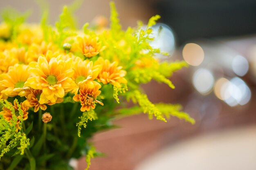
[[30, 77], [29, 66], [24, 64], [15, 64], [9, 67], [8, 73], [0, 75], [2, 81], [0, 84], [6, 89], [2, 90], [1, 93], [9, 97], [14, 97], [16, 95], [24, 96], [25, 89], [24, 83]]

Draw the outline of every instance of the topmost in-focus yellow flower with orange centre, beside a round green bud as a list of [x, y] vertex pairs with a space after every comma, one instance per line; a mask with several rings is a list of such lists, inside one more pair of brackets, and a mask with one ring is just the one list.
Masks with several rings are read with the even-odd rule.
[[77, 37], [76, 40], [76, 48], [81, 51], [85, 57], [93, 57], [106, 49], [106, 46], [101, 46], [97, 37], [91, 38], [89, 36], [84, 36], [83, 38]]

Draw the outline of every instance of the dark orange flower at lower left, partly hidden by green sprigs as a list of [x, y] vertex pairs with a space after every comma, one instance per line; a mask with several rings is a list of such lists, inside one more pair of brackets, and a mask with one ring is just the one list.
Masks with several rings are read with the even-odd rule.
[[[9, 103], [9, 104], [11, 104], [11, 103]], [[20, 123], [21, 116], [18, 111], [18, 106], [17, 106], [16, 100], [14, 100], [12, 107], [15, 111], [15, 116], [17, 118], [17, 121], [15, 123], [16, 123], [16, 132], [18, 132], [18, 129], [20, 129], [18, 124]], [[27, 102], [21, 102], [20, 108], [23, 113], [22, 119], [26, 120], [28, 118], [27, 110], [29, 110], [29, 107], [27, 106]], [[3, 111], [0, 112], [0, 115], [3, 115], [4, 119], [6, 119], [11, 124], [11, 120], [13, 120], [13, 115], [11, 114], [11, 110], [7, 107], [3, 107], [2, 109], [3, 109]]]

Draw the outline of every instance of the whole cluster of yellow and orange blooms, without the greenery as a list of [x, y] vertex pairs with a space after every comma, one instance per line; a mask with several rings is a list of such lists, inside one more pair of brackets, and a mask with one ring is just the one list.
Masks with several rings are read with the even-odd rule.
[[[6, 34], [3, 34], [5, 31]], [[2, 38], [8, 36], [6, 25], [0, 26]], [[25, 44], [19, 47], [18, 44]], [[81, 111], [94, 109], [100, 95], [102, 84], [121, 87], [126, 84], [126, 71], [117, 62], [98, 57], [95, 62], [88, 58], [99, 55], [106, 46], [101, 46], [97, 37], [76, 36], [73, 44], [64, 44], [58, 48], [52, 42], [46, 43], [40, 28], [24, 28], [16, 41], [0, 44], [0, 99], [24, 97], [21, 103], [23, 119], [27, 119], [27, 110], [34, 112], [46, 110], [47, 105], [63, 102], [67, 93], [74, 93], [74, 101], [81, 102]], [[72, 47], [72, 48], [71, 48]], [[67, 49], [67, 50], [65, 50]], [[85, 60], [75, 55], [82, 53]], [[95, 81], [97, 80], [97, 81]], [[14, 102], [13, 108], [17, 109]], [[0, 112], [10, 121], [10, 110]], [[18, 122], [17, 122], [18, 124]]]

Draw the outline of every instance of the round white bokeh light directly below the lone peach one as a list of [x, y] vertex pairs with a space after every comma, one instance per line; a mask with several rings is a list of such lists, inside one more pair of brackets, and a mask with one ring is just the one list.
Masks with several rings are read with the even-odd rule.
[[211, 71], [206, 68], [199, 68], [192, 77], [193, 86], [195, 89], [203, 94], [207, 95], [214, 84], [214, 77]]

